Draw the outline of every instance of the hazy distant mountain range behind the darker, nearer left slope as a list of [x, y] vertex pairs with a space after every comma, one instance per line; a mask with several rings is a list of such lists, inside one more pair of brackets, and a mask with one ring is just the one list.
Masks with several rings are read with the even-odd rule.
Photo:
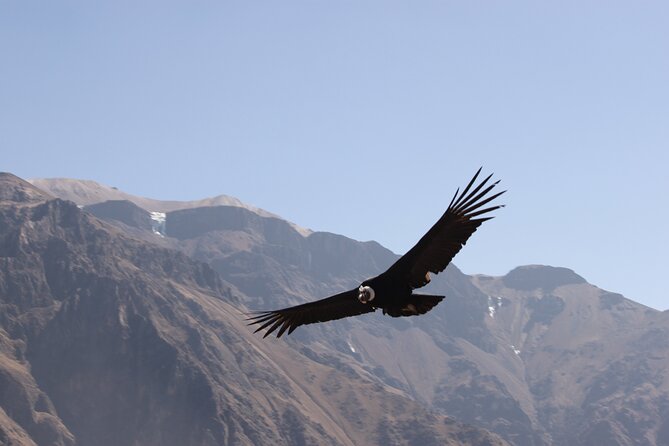
[[[301, 233], [238, 206], [167, 212], [160, 234], [96, 215], [206, 262], [251, 309], [324, 297], [397, 259], [375, 242]], [[420, 318], [365, 315], [265, 343], [338, 370], [362, 369], [379, 385], [512, 444], [669, 444], [668, 312], [542, 265], [503, 277], [450, 266], [429, 292], [447, 298]]]

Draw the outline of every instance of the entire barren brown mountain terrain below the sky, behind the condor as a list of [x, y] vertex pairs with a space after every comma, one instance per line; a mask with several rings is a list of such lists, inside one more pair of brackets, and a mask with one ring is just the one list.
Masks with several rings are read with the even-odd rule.
[[669, 444], [669, 313], [567, 268], [450, 266], [420, 318], [262, 339], [243, 312], [397, 256], [237, 202], [33, 184], [0, 181], [5, 442]]

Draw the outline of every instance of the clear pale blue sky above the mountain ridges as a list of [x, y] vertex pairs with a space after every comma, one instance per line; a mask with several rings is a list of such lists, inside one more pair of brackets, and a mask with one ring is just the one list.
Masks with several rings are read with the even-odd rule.
[[397, 253], [476, 169], [467, 273], [669, 308], [669, 3], [0, 3], [0, 170], [219, 193]]

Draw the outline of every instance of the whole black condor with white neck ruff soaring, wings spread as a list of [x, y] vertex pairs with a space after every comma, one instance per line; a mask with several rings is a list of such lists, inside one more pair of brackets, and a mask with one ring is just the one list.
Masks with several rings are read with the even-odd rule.
[[[260, 311], [249, 317], [249, 325], [258, 324], [256, 333], [266, 329], [267, 337], [275, 330], [280, 338], [300, 325], [332, 321], [371, 313], [377, 309], [392, 317], [425, 314], [444, 296], [414, 293], [430, 282], [430, 273], [443, 271], [486, 220], [489, 213], [504, 205], [484, 207], [506, 191], [490, 195], [499, 180], [488, 184], [489, 175], [478, 185], [479, 169], [467, 187], [458, 189], [437, 223], [385, 272], [363, 281], [359, 287], [325, 299], [274, 311]], [[486, 186], [487, 185], [487, 186]], [[482, 209], [483, 208], [483, 209]]]

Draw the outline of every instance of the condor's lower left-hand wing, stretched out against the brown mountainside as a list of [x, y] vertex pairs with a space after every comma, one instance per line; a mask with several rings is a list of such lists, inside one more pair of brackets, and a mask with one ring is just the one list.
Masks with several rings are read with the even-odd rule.
[[373, 311], [374, 307], [358, 300], [358, 290], [353, 289], [316, 302], [308, 302], [283, 310], [261, 311], [248, 320], [251, 321], [249, 325], [260, 324], [254, 333], [267, 328], [263, 336], [266, 338], [278, 328], [276, 337], [280, 338], [286, 330], [290, 334], [300, 325], [332, 321]]

